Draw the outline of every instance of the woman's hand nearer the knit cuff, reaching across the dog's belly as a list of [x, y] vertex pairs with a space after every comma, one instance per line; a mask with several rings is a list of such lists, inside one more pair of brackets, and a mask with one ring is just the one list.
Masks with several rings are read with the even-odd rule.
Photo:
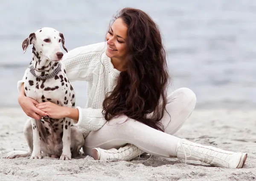
[[35, 107], [47, 113], [50, 118], [61, 119], [67, 117], [67, 107], [55, 105], [52, 102], [41, 102]]

